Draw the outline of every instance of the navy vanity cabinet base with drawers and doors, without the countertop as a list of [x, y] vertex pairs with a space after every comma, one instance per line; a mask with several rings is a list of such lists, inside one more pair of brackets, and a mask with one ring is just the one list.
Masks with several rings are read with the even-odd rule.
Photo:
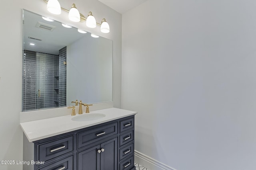
[[135, 170], [134, 115], [32, 143], [24, 136], [23, 170]]

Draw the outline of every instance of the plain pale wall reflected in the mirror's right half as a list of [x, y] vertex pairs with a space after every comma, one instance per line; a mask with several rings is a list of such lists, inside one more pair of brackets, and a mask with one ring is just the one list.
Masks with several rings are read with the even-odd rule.
[[112, 102], [112, 44], [86, 33], [67, 46], [67, 105]]

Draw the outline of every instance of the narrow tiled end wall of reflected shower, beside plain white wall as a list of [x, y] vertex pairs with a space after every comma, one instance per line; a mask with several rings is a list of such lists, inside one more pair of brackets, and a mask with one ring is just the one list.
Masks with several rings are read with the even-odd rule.
[[66, 61], [67, 47], [64, 47], [59, 55], [59, 106], [66, 106]]

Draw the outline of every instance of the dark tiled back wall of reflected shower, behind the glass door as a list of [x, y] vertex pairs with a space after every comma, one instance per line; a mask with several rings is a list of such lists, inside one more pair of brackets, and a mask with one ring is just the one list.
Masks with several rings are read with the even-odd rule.
[[58, 58], [58, 55], [24, 51], [23, 111], [58, 106], [58, 102], [54, 102], [58, 100], [58, 91], [54, 89], [58, 88]]

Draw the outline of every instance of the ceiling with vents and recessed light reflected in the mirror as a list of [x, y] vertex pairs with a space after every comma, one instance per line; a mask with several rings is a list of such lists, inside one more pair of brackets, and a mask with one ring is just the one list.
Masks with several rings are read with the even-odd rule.
[[[38, 22], [55, 28], [52, 31], [40, 29], [36, 27]], [[78, 33], [77, 28], [74, 27], [65, 28], [58, 21], [45, 21], [42, 19], [42, 16], [27, 10], [24, 10], [23, 30], [24, 49], [54, 55], [59, 55], [59, 49], [74, 43], [81, 37], [86, 36], [88, 39], [92, 39], [89, 33]], [[31, 46], [30, 43], [35, 45]]]

